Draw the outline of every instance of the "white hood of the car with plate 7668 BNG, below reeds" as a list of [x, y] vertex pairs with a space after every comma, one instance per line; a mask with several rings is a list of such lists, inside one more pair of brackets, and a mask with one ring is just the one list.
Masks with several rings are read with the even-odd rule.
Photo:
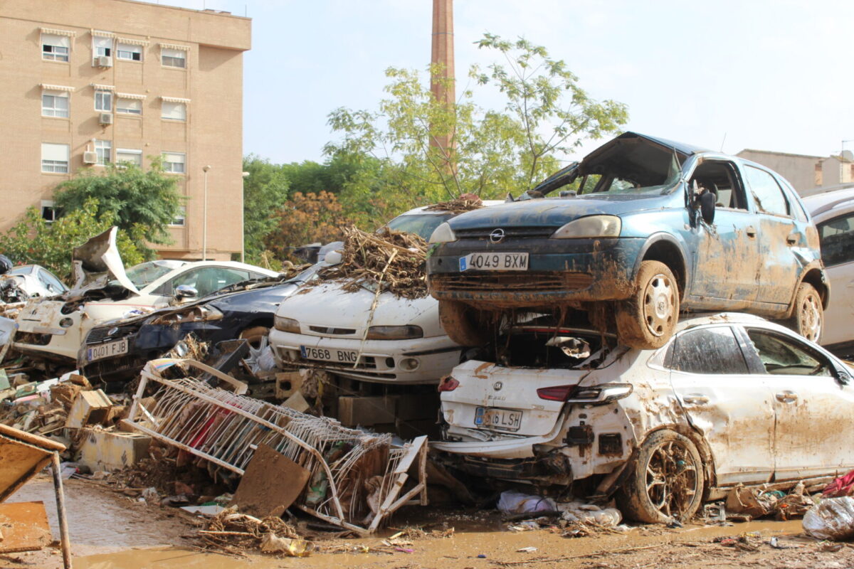
[[[375, 297], [376, 293], [366, 288], [348, 293], [341, 289], [341, 282], [324, 282], [284, 299], [276, 314], [294, 318], [303, 330], [307, 326], [351, 328], [361, 334], [371, 318]], [[439, 304], [433, 297], [402, 299], [392, 293], [380, 294], [370, 325], [407, 324], [420, 326], [424, 337], [445, 335], [439, 324]]]

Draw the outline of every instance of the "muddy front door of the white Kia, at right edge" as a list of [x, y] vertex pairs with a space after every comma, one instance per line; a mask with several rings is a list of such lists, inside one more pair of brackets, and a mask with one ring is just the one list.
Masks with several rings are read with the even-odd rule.
[[[837, 366], [795, 334], [746, 328], [758, 375], [773, 392], [775, 479], [845, 473], [854, 467], [854, 387], [836, 378]], [[752, 352], [752, 353], [751, 353]]]

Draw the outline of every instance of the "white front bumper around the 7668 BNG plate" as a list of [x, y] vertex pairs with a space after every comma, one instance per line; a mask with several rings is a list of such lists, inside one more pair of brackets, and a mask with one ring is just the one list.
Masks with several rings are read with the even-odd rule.
[[[462, 347], [447, 336], [416, 338], [413, 340], [366, 340], [357, 338], [330, 338], [307, 334], [292, 334], [273, 329], [270, 344], [279, 366], [302, 366], [325, 369], [354, 380], [382, 383], [418, 384], [437, 383], [443, 375], [459, 363]], [[307, 360], [301, 356], [300, 346], [326, 350], [360, 352], [359, 361], [352, 363]], [[401, 367], [401, 360], [415, 358], [418, 368]]]

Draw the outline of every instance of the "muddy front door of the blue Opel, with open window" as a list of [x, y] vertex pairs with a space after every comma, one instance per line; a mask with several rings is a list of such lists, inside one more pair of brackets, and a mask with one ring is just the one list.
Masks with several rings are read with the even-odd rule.
[[759, 245], [751, 231], [755, 218], [747, 209], [745, 189], [730, 160], [703, 160], [688, 186], [716, 196], [711, 226], [697, 216], [693, 237], [693, 302], [713, 310], [746, 308], [756, 299]]

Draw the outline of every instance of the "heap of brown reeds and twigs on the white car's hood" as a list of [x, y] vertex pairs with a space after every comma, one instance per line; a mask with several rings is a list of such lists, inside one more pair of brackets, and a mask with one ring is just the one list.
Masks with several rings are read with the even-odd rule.
[[342, 288], [358, 291], [366, 282], [377, 293], [420, 299], [427, 296], [427, 241], [418, 235], [384, 227], [368, 233], [356, 227], [344, 229], [342, 261], [320, 270], [319, 280], [343, 280]]

